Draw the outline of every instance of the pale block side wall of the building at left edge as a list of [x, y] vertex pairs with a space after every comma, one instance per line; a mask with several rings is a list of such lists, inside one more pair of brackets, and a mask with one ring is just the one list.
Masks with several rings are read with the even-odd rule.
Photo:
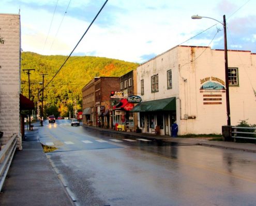
[[[0, 143], [20, 135], [20, 15], [0, 14]], [[21, 142], [19, 141], [19, 144]], [[18, 145], [19, 147], [19, 145]]]

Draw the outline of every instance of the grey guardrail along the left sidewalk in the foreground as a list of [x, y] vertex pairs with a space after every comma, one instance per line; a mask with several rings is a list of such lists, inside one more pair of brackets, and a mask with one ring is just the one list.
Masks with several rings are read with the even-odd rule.
[[17, 147], [17, 134], [13, 134], [4, 148], [0, 151], [0, 192], [8, 173], [13, 155]]

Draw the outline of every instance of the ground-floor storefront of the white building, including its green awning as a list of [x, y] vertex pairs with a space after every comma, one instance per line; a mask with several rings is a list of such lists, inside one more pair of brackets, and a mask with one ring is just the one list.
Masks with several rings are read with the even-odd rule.
[[131, 112], [139, 112], [142, 132], [152, 133], [158, 126], [161, 135], [171, 135], [170, 126], [176, 121], [176, 98], [143, 101]]

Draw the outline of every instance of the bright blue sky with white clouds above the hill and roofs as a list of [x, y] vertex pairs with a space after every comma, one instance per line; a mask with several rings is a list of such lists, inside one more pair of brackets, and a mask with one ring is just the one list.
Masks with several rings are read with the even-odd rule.
[[[105, 2], [1, 0], [0, 13], [20, 13], [23, 52], [68, 56]], [[255, 0], [109, 0], [72, 56], [143, 63], [177, 45], [223, 49], [223, 15], [228, 49], [256, 53], [255, 9]]]

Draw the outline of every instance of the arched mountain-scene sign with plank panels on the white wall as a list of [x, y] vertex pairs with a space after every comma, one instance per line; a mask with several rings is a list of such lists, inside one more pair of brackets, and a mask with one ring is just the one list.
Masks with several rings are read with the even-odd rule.
[[222, 93], [225, 93], [225, 82], [217, 77], [206, 77], [200, 79], [200, 83], [202, 84], [200, 88], [200, 93], [205, 93], [203, 94], [203, 104], [221, 105]]

